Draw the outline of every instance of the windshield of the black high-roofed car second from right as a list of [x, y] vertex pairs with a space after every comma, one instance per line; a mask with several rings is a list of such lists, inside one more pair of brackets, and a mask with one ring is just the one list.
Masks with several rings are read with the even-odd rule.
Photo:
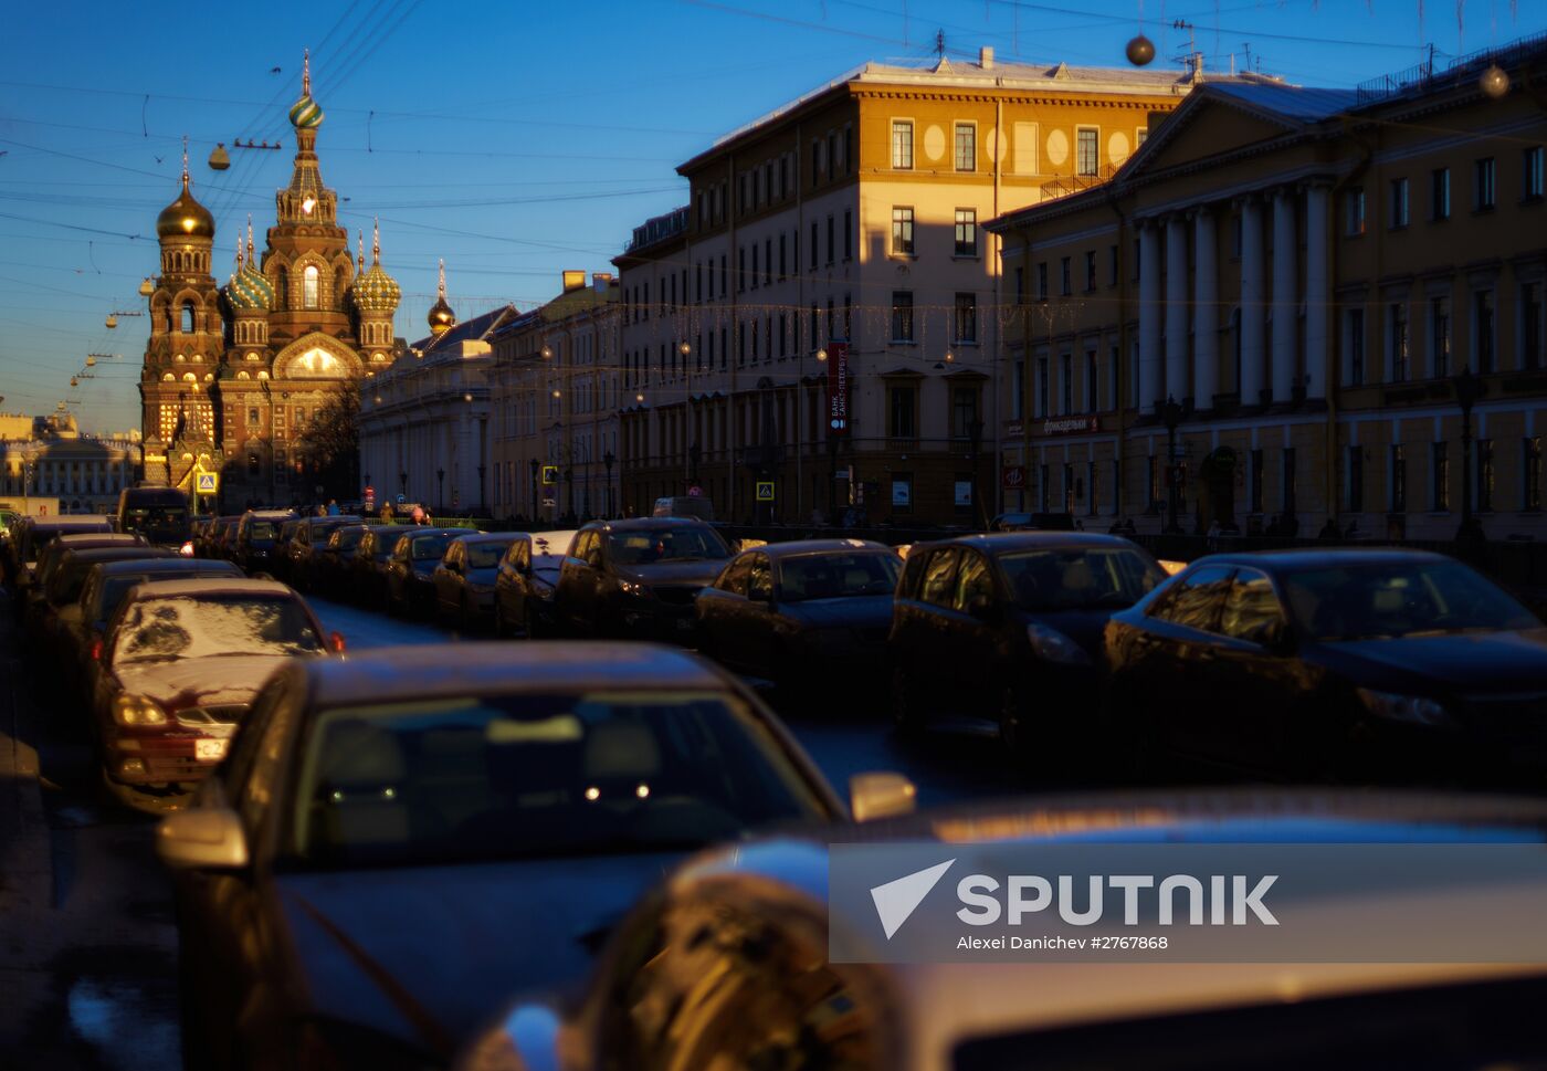
[[1066, 546], [999, 556], [1023, 610], [1122, 608], [1165, 580], [1148, 557], [1126, 546]]

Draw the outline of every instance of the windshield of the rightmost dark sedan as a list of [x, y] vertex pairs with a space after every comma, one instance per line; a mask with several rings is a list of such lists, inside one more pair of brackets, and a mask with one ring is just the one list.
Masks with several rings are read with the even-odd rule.
[[1358, 562], [1281, 577], [1290, 614], [1313, 639], [1377, 639], [1539, 628], [1519, 602], [1460, 562]]

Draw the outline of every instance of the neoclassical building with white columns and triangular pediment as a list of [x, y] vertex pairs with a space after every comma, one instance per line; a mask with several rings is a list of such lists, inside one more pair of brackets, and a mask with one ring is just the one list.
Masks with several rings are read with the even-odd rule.
[[1465, 498], [1547, 537], [1544, 51], [1205, 84], [1105, 187], [989, 223], [1004, 506], [1451, 539]]

